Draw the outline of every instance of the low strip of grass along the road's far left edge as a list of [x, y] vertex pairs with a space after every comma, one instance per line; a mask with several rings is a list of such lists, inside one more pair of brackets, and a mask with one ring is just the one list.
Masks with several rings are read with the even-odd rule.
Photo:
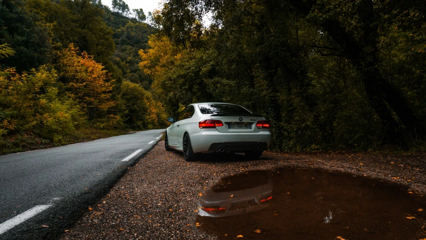
[[99, 138], [123, 135], [128, 133], [128, 129], [97, 129], [84, 127], [76, 130], [70, 135], [54, 136], [53, 139], [42, 138], [33, 132], [18, 132], [11, 135], [1, 136], [0, 155], [15, 152], [30, 151], [54, 146], [72, 144], [76, 142], [91, 141]]

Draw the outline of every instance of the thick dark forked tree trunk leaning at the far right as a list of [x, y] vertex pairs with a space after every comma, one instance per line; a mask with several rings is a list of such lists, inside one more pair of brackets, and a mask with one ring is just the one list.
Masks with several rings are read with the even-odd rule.
[[[331, 4], [329, 1], [292, 0], [291, 3], [310, 17], [312, 22], [326, 30], [339, 46], [336, 49], [337, 54], [344, 55], [356, 66], [362, 75], [371, 105], [388, 128], [389, 138], [404, 141], [404, 137], [399, 133], [400, 124], [393, 116], [394, 112], [412, 134], [424, 135], [425, 122], [411, 109], [406, 96], [385, 78], [379, 69], [379, 33], [380, 27], [389, 26], [389, 19], [404, 19], [406, 9], [414, 11], [417, 21], [426, 20], [425, 2], [398, 4], [372, 0], [341, 1], [333, 7], [327, 7]], [[343, 12], [346, 13], [345, 17], [341, 17]], [[407, 21], [409, 20], [403, 20], [405, 23]], [[414, 23], [420, 26], [417, 22]]]

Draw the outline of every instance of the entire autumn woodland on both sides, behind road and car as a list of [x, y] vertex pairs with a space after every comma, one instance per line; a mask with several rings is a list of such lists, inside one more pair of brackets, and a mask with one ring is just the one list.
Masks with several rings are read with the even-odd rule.
[[1, 1], [0, 154], [165, 127], [201, 101], [265, 115], [276, 150], [426, 150], [425, 1], [112, 4]]

